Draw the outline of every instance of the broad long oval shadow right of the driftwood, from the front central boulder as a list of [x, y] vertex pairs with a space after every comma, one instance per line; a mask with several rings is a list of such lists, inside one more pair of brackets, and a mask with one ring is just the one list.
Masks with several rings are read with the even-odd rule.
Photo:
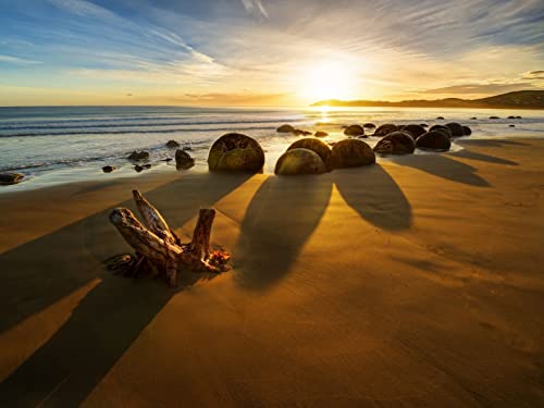
[[249, 203], [236, 244], [236, 280], [264, 289], [280, 281], [323, 217], [332, 194], [326, 175], [269, 176]]

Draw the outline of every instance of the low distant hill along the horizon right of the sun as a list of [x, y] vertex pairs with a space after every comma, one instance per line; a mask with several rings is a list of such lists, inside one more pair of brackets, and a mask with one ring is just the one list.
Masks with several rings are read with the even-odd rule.
[[337, 100], [316, 102], [312, 107], [403, 107], [403, 108], [496, 108], [496, 109], [544, 109], [544, 90], [518, 90], [481, 99], [416, 99], [388, 102], [383, 100]]

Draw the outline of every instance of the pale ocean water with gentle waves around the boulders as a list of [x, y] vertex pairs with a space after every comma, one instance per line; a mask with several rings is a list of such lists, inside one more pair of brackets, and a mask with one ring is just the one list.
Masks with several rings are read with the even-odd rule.
[[[496, 115], [500, 119], [490, 120]], [[508, 120], [509, 115], [522, 119]], [[444, 116], [445, 121], [436, 120]], [[478, 118], [471, 120], [470, 118]], [[435, 123], [460, 122], [472, 129], [470, 138], [543, 137], [544, 111], [417, 108], [301, 108], [220, 109], [180, 107], [36, 107], [0, 108], [0, 172], [18, 172], [26, 181], [2, 186], [1, 191], [38, 188], [100, 177], [138, 176], [126, 157], [134, 150], [151, 154], [150, 171], [175, 171], [176, 140], [196, 159], [189, 171], [206, 171], [212, 143], [228, 132], [239, 132], [259, 140], [267, 153], [265, 172], [299, 136], [279, 134], [285, 123], [330, 134], [325, 141], [344, 138], [343, 125], [372, 122]], [[516, 127], [509, 127], [514, 124]], [[379, 138], [366, 139], [371, 146]], [[453, 149], [459, 149], [454, 144]], [[387, 159], [380, 159], [387, 160]], [[103, 165], [119, 170], [103, 174]]]

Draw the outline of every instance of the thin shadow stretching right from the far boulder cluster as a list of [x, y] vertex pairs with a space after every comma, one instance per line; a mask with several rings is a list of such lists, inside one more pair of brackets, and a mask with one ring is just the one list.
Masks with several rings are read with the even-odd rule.
[[417, 169], [452, 182], [474, 187], [490, 187], [490, 184], [475, 173], [475, 168], [444, 154], [408, 154], [392, 160], [399, 165]]

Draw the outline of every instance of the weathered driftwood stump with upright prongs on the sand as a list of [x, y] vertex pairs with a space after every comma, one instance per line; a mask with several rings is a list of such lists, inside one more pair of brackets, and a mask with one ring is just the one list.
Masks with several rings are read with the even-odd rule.
[[133, 190], [133, 197], [143, 222], [127, 208], [114, 209], [110, 221], [136, 254], [109, 259], [109, 269], [129, 276], [163, 274], [169, 286], [177, 284], [177, 274], [184, 270], [217, 273], [226, 269], [227, 252], [210, 254], [214, 209], [200, 209], [191, 242], [182, 244], [161, 213], [138, 190]]

